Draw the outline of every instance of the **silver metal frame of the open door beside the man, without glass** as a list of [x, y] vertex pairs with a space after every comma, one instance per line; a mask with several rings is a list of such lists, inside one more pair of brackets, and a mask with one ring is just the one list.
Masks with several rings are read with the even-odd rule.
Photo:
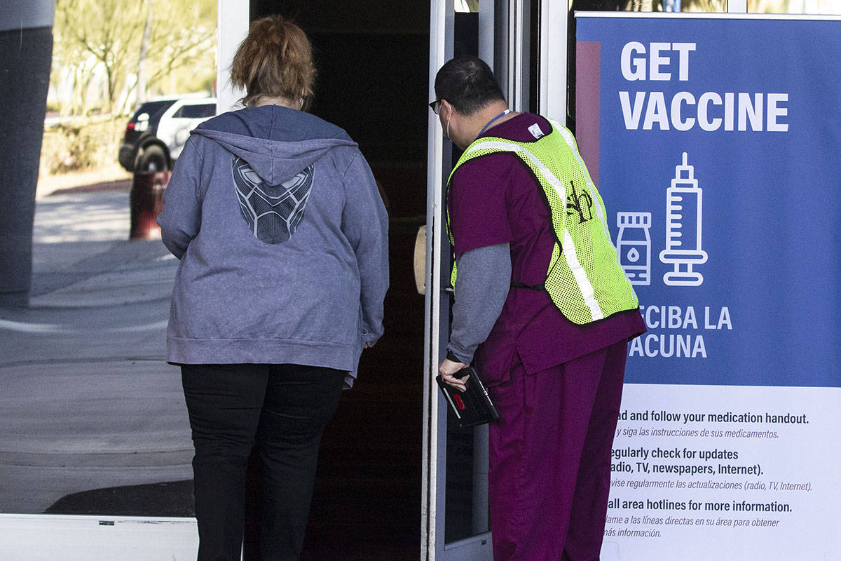
[[[542, 0], [548, 2], [548, 0]], [[499, 77], [515, 110], [528, 108], [528, 8], [530, 0], [479, 0], [479, 53]], [[493, 18], [489, 16], [493, 13]], [[505, 33], [500, 34], [499, 23]], [[432, 0], [430, 10], [429, 98], [435, 96], [435, 76], [452, 58], [453, 0]], [[500, 45], [495, 45], [500, 41]], [[564, 45], [565, 48], [565, 45]], [[525, 76], [525, 77], [524, 77]], [[447, 473], [447, 405], [435, 382], [446, 353], [449, 325], [450, 246], [446, 233], [444, 188], [450, 173], [449, 147], [441, 124], [429, 113], [426, 177], [426, 300], [424, 310], [424, 401], [421, 482], [421, 560], [489, 561], [490, 532], [445, 543], [444, 499]], [[486, 452], [487, 448], [484, 448]]]

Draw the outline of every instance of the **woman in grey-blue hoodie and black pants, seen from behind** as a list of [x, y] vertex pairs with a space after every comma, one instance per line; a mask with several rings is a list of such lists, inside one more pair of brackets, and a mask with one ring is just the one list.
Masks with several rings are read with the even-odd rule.
[[240, 558], [246, 463], [262, 459], [262, 558], [297, 559], [321, 432], [383, 334], [388, 220], [344, 130], [304, 112], [309, 40], [279, 16], [242, 42], [245, 108], [198, 126], [158, 217], [181, 263], [167, 360], [193, 431], [198, 559]]

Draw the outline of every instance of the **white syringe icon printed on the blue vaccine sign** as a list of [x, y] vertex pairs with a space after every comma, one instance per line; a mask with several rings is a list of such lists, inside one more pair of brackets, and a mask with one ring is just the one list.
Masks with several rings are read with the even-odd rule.
[[666, 189], [666, 248], [660, 261], [671, 263], [674, 270], [663, 275], [669, 286], [699, 286], [704, 282], [693, 265], [706, 262], [701, 249], [701, 211], [703, 198], [694, 167], [688, 165], [686, 152], [683, 164], [674, 167], [672, 185]]

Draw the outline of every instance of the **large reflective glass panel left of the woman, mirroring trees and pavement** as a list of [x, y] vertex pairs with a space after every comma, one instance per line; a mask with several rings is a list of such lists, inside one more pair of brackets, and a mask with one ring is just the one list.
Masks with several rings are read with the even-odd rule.
[[[165, 174], [132, 189], [120, 164], [135, 166], [135, 141], [173, 103], [157, 98], [213, 87], [217, 3], [97, 5], [59, 3], [52, 29], [21, 29], [19, 45], [16, 32], [0, 52], [4, 62], [18, 60], [23, 45], [44, 61], [33, 69], [44, 72], [37, 83], [50, 77], [43, 123], [43, 99], [40, 115], [32, 100], [4, 99], [9, 114], [32, 109], [20, 122], [37, 125], [38, 140], [22, 141], [14, 157], [27, 174], [40, 161], [40, 175], [37, 184], [3, 183], [31, 201], [34, 222], [24, 231], [8, 228], [17, 216], [0, 220], [0, 239], [21, 240], [12, 255], [27, 280], [25, 302], [0, 303], [0, 511], [190, 516], [190, 429], [164, 348], [177, 259], [145, 239], [156, 236], [149, 218]], [[110, 47], [84, 50], [77, 32]], [[142, 80], [132, 78], [138, 66]], [[19, 135], [34, 138], [27, 127]], [[29, 151], [38, 143], [40, 154]], [[161, 150], [153, 155], [166, 161]], [[133, 211], [131, 193], [151, 196]], [[7, 257], [0, 251], [0, 269]]]

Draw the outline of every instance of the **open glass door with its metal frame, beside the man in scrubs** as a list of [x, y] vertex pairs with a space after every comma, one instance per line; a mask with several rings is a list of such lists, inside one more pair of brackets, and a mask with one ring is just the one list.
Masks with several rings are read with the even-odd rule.
[[[529, 0], [439, 0], [431, 5], [430, 87], [438, 69], [454, 56], [486, 61], [515, 110], [529, 110]], [[484, 561], [491, 552], [488, 513], [488, 427], [461, 429], [437, 388], [438, 364], [446, 354], [452, 288], [444, 190], [458, 148], [429, 114], [426, 208], [426, 342], [424, 382], [422, 555], [433, 559]]]

